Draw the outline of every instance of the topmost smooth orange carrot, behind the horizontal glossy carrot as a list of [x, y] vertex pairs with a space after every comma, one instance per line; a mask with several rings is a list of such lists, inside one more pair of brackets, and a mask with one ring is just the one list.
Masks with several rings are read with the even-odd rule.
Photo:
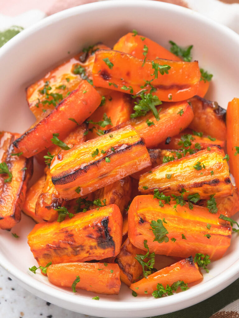
[[158, 43], [131, 32], [120, 38], [114, 45], [113, 50], [133, 55], [137, 59], [144, 59], [144, 45], [148, 47], [147, 59], [149, 60], [160, 58], [182, 61], [177, 55], [171, 53]]

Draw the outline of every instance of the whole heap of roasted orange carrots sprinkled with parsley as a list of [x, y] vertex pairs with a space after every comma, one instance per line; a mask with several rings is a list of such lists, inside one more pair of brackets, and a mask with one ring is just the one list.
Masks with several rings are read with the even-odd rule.
[[134, 30], [84, 49], [27, 88], [36, 122], [0, 133], [0, 228], [33, 218], [29, 270], [56, 286], [169, 296], [239, 231], [239, 99], [204, 99], [212, 74], [170, 45]]

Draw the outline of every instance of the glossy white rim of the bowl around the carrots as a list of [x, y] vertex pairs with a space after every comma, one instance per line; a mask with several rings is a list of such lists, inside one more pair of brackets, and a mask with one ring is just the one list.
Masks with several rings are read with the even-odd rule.
[[[20, 43], [23, 39], [27, 38], [29, 35], [34, 34], [34, 32], [39, 31], [40, 29], [44, 29], [49, 24], [54, 24], [59, 20], [64, 18], [69, 18], [73, 16], [77, 16], [79, 14], [87, 13], [91, 10], [104, 10], [104, 8], [117, 8], [117, 7], [151, 7], [152, 10], [154, 8], [163, 8], [166, 10], [173, 11], [179, 15], [187, 17], [188, 15], [192, 15], [194, 19], [203, 24], [207, 24], [210, 27], [214, 27], [218, 30], [219, 33], [225, 34], [228, 39], [231, 39], [235, 44], [238, 44], [239, 48], [239, 35], [229, 29], [227, 26], [221, 25], [218, 22], [215, 22], [196, 11], [192, 11], [191, 9], [181, 7], [178, 5], [174, 5], [171, 3], [158, 2], [153, 0], [106, 0], [100, 2], [93, 2], [88, 4], [83, 4], [80, 6], [76, 6], [73, 8], [69, 8], [67, 10], [60, 11], [55, 13], [49, 17], [42, 19], [37, 22], [33, 26], [21, 31], [18, 35], [8, 41], [1, 49], [0, 49], [0, 59], [2, 56], [7, 54], [8, 51], [14, 50], [14, 46]], [[14, 277], [20, 285], [24, 286], [25, 289], [28, 289], [32, 293], [39, 295], [42, 297], [42, 294], [46, 297], [51, 297], [51, 301], [54, 303], [54, 299], [58, 299], [62, 301], [62, 307], [70, 309], [70, 305], [79, 305], [81, 306], [81, 312], [87, 313], [87, 308], [93, 308], [95, 312], [99, 310], [99, 314], [101, 311], [110, 310], [110, 311], [120, 311], [120, 312], [129, 312], [129, 311], [141, 311], [141, 314], [137, 315], [137, 317], [148, 315], [146, 311], [150, 314], [152, 311], [162, 309], [163, 313], [172, 312], [175, 310], [179, 310], [193, 304], [196, 304], [200, 301], [205, 300], [206, 298], [216, 294], [221, 291], [223, 288], [227, 287], [230, 283], [232, 283], [235, 279], [239, 277], [239, 259], [236, 260], [233, 264], [230, 265], [230, 270], [224, 271], [223, 279], [219, 280], [218, 276], [221, 275], [219, 273], [214, 278], [208, 280], [205, 283], [200, 283], [196, 288], [192, 288], [190, 290], [185, 291], [184, 293], [174, 294], [174, 297], [164, 297], [162, 301], [156, 301], [155, 299], [148, 299], [148, 297], [144, 300], [140, 298], [140, 301], [109, 301], [103, 300], [101, 301], [92, 301], [91, 299], [87, 299], [86, 297], [82, 297], [77, 295], [77, 297], [72, 297], [71, 294], [65, 293], [64, 290], [58, 290], [52, 288], [52, 286], [46, 285], [44, 282], [39, 281], [37, 279], [32, 279], [32, 276], [29, 273], [23, 273], [18, 269], [17, 265], [12, 264], [2, 252], [0, 252], [0, 265], [3, 266], [11, 277]], [[213, 288], [212, 288], [213, 286]], [[68, 305], [66, 305], [66, 303]], [[177, 308], [174, 309], [174, 305], [177, 305]], [[122, 308], [123, 307], [123, 308]], [[169, 308], [166, 310], [165, 308]], [[73, 309], [74, 310], [74, 309]], [[110, 314], [110, 313], [109, 313]], [[107, 316], [106, 314], [104, 314]], [[111, 317], [109, 315], [108, 317]]]

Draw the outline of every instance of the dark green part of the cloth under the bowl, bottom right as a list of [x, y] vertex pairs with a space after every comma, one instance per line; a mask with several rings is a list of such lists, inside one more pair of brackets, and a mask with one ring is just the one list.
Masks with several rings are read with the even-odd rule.
[[[167, 297], [173, 297], [173, 295]], [[170, 314], [148, 318], [209, 318], [211, 315], [237, 299], [239, 299], [239, 279], [221, 292], [196, 305]]]

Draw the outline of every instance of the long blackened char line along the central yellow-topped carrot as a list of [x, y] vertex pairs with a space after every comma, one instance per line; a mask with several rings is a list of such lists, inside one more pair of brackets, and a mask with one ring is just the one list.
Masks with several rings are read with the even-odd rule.
[[[118, 154], [120, 154], [121, 152], [125, 152], [130, 150], [133, 147], [137, 147], [137, 146], [144, 146], [145, 142], [142, 138], [140, 138], [137, 142], [127, 145], [124, 149], [122, 149], [121, 147], [119, 147], [115, 152], [110, 153], [110, 156], [116, 156]], [[70, 173], [68, 173], [68, 171], [63, 172], [62, 174], [59, 174], [57, 177], [52, 177], [52, 183], [53, 184], [67, 184], [70, 182], [73, 182], [74, 180], [76, 180], [79, 176], [84, 175], [87, 173], [87, 171], [89, 169], [91, 169], [92, 166], [98, 166], [101, 162], [105, 161], [105, 157], [100, 158], [94, 162], [89, 163], [88, 165], [86, 165], [83, 168], [79, 168], [76, 171], [72, 171]], [[65, 174], [64, 173], [68, 173]]]

